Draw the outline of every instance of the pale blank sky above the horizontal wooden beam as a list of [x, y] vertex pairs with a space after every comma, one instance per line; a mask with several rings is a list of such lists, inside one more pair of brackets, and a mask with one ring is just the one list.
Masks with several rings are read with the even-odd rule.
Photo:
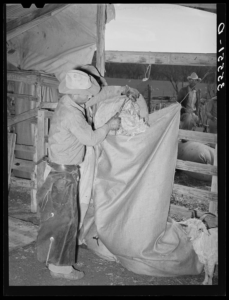
[[[201, 5], [201, 4], [200, 4]], [[114, 3], [105, 50], [216, 53], [216, 14], [175, 4]]]

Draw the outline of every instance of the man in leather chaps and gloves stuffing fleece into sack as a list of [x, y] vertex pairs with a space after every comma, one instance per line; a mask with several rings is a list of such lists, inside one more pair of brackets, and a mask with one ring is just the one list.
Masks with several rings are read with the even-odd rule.
[[46, 262], [52, 277], [78, 280], [85, 276], [83, 271], [73, 268], [78, 225], [78, 166], [83, 161], [85, 145], [92, 147], [101, 143], [110, 130], [120, 127], [116, 114], [93, 131], [85, 119], [85, 109], [121, 94], [136, 101], [139, 92], [128, 85], [101, 88], [93, 76], [80, 70], [66, 73], [59, 92], [65, 95], [59, 100], [51, 120], [49, 156], [37, 162], [47, 163], [36, 195], [40, 214], [37, 258]]

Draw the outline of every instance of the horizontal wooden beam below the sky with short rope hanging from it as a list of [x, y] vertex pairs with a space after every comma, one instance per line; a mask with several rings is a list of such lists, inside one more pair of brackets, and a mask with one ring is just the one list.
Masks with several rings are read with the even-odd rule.
[[105, 51], [105, 61], [131, 64], [168, 64], [209, 67], [217, 65], [216, 53]]

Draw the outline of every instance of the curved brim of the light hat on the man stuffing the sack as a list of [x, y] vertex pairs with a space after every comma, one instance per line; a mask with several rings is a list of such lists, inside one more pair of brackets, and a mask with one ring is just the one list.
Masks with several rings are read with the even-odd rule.
[[90, 79], [91, 79], [91, 86], [90, 88], [87, 88], [87, 89], [83, 89], [83, 88], [73, 88], [73, 89], [70, 89], [70, 88], [67, 88], [66, 86], [66, 80], [65, 78], [61, 81], [61, 83], [59, 84], [59, 92], [61, 94], [78, 94], [78, 95], [97, 95], [100, 91], [100, 86], [98, 84], [98, 82], [96, 81], [96, 79], [89, 75], [90, 76]]

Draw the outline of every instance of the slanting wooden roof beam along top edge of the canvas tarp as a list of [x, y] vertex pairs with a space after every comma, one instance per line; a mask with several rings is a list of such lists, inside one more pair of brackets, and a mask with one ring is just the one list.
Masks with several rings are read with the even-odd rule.
[[56, 13], [59, 13], [61, 10], [63, 10], [64, 8], [70, 5], [72, 4], [65, 4], [65, 3], [47, 4], [43, 8], [37, 8], [31, 13], [27, 13], [23, 16], [18, 17], [17, 19], [7, 22], [6, 25], [7, 41], [25, 32], [28, 29], [37, 26], [41, 22], [46, 21], [47, 19], [51, 18]]

